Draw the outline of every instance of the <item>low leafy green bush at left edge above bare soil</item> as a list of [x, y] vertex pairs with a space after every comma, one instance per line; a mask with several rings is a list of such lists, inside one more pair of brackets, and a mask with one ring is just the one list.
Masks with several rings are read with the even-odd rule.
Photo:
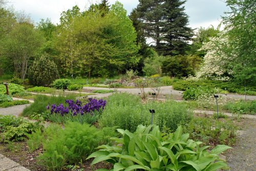
[[0, 130], [3, 132], [1, 141], [3, 142], [22, 141], [27, 134], [31, 134], [38, 128], [39, 122], [31, 123], [20, 117], [0, 115]]

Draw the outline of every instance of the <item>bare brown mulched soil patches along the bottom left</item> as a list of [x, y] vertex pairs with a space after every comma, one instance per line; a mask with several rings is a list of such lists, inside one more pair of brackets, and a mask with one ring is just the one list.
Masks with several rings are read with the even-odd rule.
[[[38, 150], [29, 153], [28, 146], [26, 142], [14, 142], [13, 149], [11, 151], [8, 149], [7, 143], [0, 143], [0, 154], [6, 156], [7, 158], [19, 163], [20, 165], [30, 169], [31, 171], [46, 171], [47, 169], [42, 167], [37, 163], [37, 157], [42, 153], [42, 149], [39, 148]], [[98, 168], [111, 168], [112, 165], [105, 162], [97, 163], [91, 166], [91, 162], [93, 159], [89, 159], [83, 161], [82, 164], [78, 164], [77, 169], [83, 168], [84, 171], [93, 171]], [[73, 171], [76, 169], [68, 169], [64, 168], [62, 170], [65, 171]]]

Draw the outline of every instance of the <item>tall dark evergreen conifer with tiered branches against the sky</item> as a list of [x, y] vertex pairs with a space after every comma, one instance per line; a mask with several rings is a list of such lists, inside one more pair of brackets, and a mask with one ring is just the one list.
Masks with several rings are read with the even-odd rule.
[[163, 55], [185, 54], [193, 30], [187, 27], [188, 16], [180, 0], [140, 0], [137, 7], [147, 38], [155, 41]]

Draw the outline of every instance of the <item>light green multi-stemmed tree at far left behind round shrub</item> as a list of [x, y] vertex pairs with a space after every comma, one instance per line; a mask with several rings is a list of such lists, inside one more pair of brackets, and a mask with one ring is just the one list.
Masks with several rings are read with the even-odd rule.
[[11, 61], [15, 73], [23, 80], [43, 41], [44, 37], [27, 22], [17, 23], [3, 40], [4, 58]]

